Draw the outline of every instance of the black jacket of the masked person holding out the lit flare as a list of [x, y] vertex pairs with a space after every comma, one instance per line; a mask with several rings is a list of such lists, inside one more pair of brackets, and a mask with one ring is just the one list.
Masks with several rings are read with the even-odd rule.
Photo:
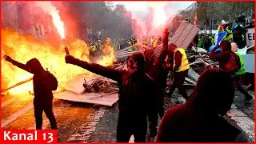
[[[144, 61], [142, 54], [133, 54], [134, 59], [139, 58]], [[119, 100], [118, 108], [120, 112], [140, 115], [144, 118], [155, 110], [154, 81], [144, 70], [138, 75], [130, 75], [125, 70], [114, 70], [96, 63], [83, 62], [77, 58], [70, 62], [80, 66], [95, 74], [118, 82]], [[144, 62], [142, 62], [144, 65]]]

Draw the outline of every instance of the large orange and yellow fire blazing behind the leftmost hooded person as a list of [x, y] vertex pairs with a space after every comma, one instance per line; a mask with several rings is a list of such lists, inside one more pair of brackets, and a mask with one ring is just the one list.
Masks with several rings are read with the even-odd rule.
[[[88, 74], [88, 76], [96, 76], [87, 70], [84, 70], [78, 66], [68, 65], [65, 62], [63, 55], [63, 49], [55, 48], [54, 46], [47, 44], [46, 42], [37, 42], [31, 36], [24, 36], [14, 32], [13, 30], [2, 30], [2, 50], [5, 51], [14, 60], [18, 62], [26, 63], [31, 58], [38, 58], [42, 66], [54, 74], [58, 79], [58, 91], [64, 90], [67, 82], [74, 78], [78, 74]], [[70, 54], [75, 58], [80, 58], [86, 62], [89, 62], [89, 47], [86, 42], [77, 39], [73, 42], [69, 42]], [[102, 60], [98, 64], [102, 66], [110, 66], [114, 59], [113, 46], [106, 45], [107, 47]], [[16, 66], [13, 66], [10, 62], [2, 57], [2, 89], [6, 89], [14, 84], [24, 81], [27, 78], [33, 77], [33, 74], [21, 70]], [[17, 86], [9, 90], [10, 94], [21, 94], [27, 91], [33, 91], [32, 82], [27, 82], [21, 86]]]

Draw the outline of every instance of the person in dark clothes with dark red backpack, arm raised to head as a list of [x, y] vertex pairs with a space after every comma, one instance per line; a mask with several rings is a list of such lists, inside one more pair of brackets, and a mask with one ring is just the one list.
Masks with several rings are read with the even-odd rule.
[[[218, 46], [216, 46], [211, 52], [210, 52], [210, 59], [216, 59], [218, 60], [219, 68], [226, 70], [230, 75], [234, 76], [235, 73], [238, 72], [241, 68], [240, 59], [237, 54], [234, 54], [234, 52], [231, 50], [231, 44], [229, 41], [223, 40], [221, 42], [221, 53], [215, 54], [215, 50], [218, 49]], [[235, 78], [235, 81], [237, 78]], [[246, 101], [251, 100], [253, 97], [248, 93], [247, 90], [245, 90], [244, 87], [238, 86], [238, 90], [245, 95]]]

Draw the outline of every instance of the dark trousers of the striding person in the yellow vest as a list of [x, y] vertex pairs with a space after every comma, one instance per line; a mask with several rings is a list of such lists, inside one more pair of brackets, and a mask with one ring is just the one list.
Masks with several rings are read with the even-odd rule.
[[188, 96], [186, 94], [186, 89], [183, 86], [183, 83], [185, 81], [185, 78], [186, 78], [188, 72], [189, 72], [189, 70], [184, 70], [181, 72], [174, 72], [174, 82], [170, 88], [169, 96], [171, 96], [174, 93], [174, 90], [176, 88], [178, 88], [179, 93], [182, 94], [182, 97], [187, 100]]

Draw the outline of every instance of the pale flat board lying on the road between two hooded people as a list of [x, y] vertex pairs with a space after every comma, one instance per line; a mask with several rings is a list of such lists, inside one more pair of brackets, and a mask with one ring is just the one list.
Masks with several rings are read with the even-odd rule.
[[[74, 94], [70, 91], [64, 91], [62, 93], [54, 94], [54, 98], [72, 101], [72, 102], [86, 102], [94, 103], [103, 106], [113, 106], [118, 101], [118, 94], [104, 95], [102, 98], [99, 97], [98, 93], [85, 93], [85, 94]], [[98, 97], [98, 98], [95, 98]]]

